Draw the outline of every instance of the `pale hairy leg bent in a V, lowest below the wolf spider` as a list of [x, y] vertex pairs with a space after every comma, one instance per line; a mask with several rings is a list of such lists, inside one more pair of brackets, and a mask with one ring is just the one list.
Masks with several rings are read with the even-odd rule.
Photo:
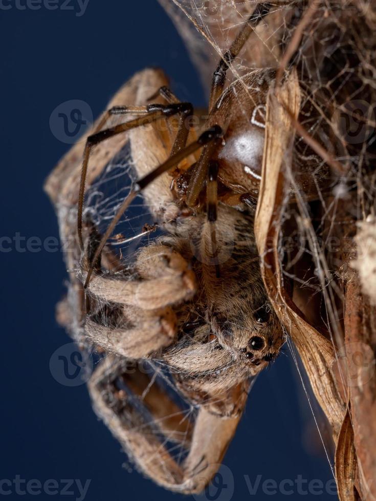
[[[227, 443], [231, 440], [238, 424], [239, 417], [223, 420], [219, 416], [214, 416], [202, 409], [197, 416], [195, 428], [192, 430], [189, 423], [187, 425], [189, 431], [189, 444], [187, 445], [190, 445], [190, 452], [184, 464], [182, 466], [178, 465], [170, 457], [165, 446], [154, 436], [152, 430], [145, 425], [139, 426], [139, 422], [142, 420], [140, 415], [134, 413], [131, 420], [129, 418], [124, 420], [122, 416], [115, 415], [110, 406], [107, 405], [105, 401], [106, 393], [103, 390], [106, 389], [107, 393], [110, 391], [109, 388], [114, 379], [114, 374], [122, 374], [121, 369], [121, 362], [115, 362], [109, 358], [108, 362], [105, 362], [96, 372], [90, 383], [90, 393], [96, 406], [96, 412], [112, 429], [113, 434], [118, 438], [124, 449], [132, 454], [132, 457], [137, 461], [138, 467], [145, 474], [154, 479], [159, 479], [159, 484], [166, 489], [191, 494], [202, 491], [207, 481], [206, 475], [208, 473], [213, 475], [217, 469], [217, 465], [214, 464], [213, 460], [215, 460], [215, 463], [222, 460]], [[127, 384], [134, 389], [136, 395], [140, 394], [145, 386], [145, 383], [140, 384], [142, 383], [140, 376], [142, 379], [144, 378], [142, 374], [138, 374], [138, 371], [134, 375], [125, 376]], [[158, 415], [161, 415], [161, 406], [156, 406], [155, 403], [152, 404], [150, 402], [151, 397], [152, 395], [149, 394], [145, 403], [150, 411], [156, 408], [156, 417], [158, 417]], [[161, 398], [158, 395], [156, 397]], [[162, 401], [168, 407], [173, 406], [173, 402], [166, 401], [165, 397], [163, 397]], [[127, 405], [130, 407], [129, 403]], [[182, 416], [181, 412], [178, 416]], [[164, 421], [162, 422], [164, 423]], [[176, 429], [172, 430], [171, 433], [168, 433], [168, 431], [168, 428], [166, 429], [163, 426], [162, 432], [166, 435], [166, 440], [171, 440], [176, 434]], [[210, 443], [213, 434], [220, 437], [220, 440]], [[208, 446], [211, 454], [208, 457], [203, 457], [203, 450], [207, 450]], [[208, 469], [210, 472], [207, 471]]]

